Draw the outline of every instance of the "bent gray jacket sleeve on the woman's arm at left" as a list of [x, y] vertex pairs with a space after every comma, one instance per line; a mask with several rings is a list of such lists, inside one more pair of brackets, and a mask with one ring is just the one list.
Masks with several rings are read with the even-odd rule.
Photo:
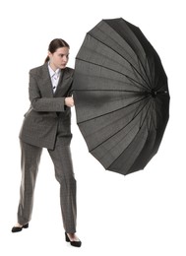
[[29, 94], [31, 106], [35, 111], [63, 112], [66, 109], [65, 97], [42, 97], [36, 79], [30, 72]]

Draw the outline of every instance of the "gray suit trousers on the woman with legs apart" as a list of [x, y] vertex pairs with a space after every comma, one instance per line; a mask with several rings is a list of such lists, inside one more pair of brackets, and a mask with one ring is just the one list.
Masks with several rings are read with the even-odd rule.
[[[31, 221], [33, 193], [42, 148], [21, 141], [22, 182], [18, 223], [28, 224]], [[55, 177], [60, 183], [60, 204], [63, 225], [68, 233], [76, 232], [76, 179], [74, 177], [69, 145], [56, 143], [54, 150], [48, 150], [54, 164]]]

